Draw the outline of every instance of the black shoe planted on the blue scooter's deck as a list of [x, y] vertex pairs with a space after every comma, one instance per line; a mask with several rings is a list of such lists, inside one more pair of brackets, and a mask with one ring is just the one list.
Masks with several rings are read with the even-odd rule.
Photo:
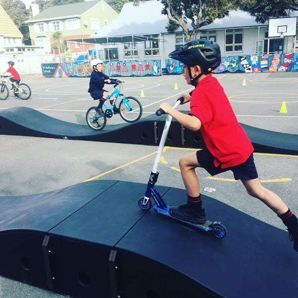
[[180, 220], [194, 224], [204, 224], [206, 222], [205, 210], [195, 212], [188, 204], [179, 207], [170, 207], [170, 214]]

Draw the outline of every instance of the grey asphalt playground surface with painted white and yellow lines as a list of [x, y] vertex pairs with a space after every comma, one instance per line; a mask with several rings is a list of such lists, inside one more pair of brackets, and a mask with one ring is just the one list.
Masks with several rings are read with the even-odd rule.
[[[240, 123], [270, 131], [298, 134], [297, 73], [215, 76], [224, 86]], [[162, 101], [173, 105], [182, 92], [189, 92], [193, 88], [186, 84], [183, 75], [120, 79], [125, 81], [123, 93], [141, 101], [142, 117], [155, 113]], [[88, 78], [44, 78], [38, 74], [25, 74], [22, 75], [22, 82], [31, 86], [31, 98], [20, 100], [11, 93], [7, 100], [0, 101], [0, 109], [25, 106], [60, 120], [87, 125], [85, 113], [89, 107], [97, 104], [87, 92], [88, 81]], [[112, 91], [113, 87], [106, 85], [106, 89]], [[283, 101], [287, 113], [280, 112]], [[189, 105], [180, 106], [179, 109], [188, 110]], [[107, 126], [123, 122], [119, 115], [114, 115]], [[157, 151], [157, 146], [6, 135], [0, 135], [0, 144], [0, 196], [12, 197], [48, 192], [94, 179], [146, 185]], [[171, 147], [164, 150], [158, 168], [157, 188], [158, 185], [184, 188], [178, 159], [192, 150]], [[255, 153], [254, 158], [264, 186], [277, 193], [298, 214], [298, 156]], [[241, 182], [233, 180], [231, 172], [215, 177], [210, 177], [203, 169], [198, 169], [197, 173], [203, 194], [285, 230], [282, 222], [269, 208], [246, 194]], [[185, 200], [186, 197], [181, 198], [181, 204]], [[212, 217], [208, 210], [206, 213], [207, 218]], [[224, 225], [228, 229], [229, 223]], [[293, 244], [285, 238], [285, 245]], [[64, 296], [0, 277], [0, 298], [27, 297]]]

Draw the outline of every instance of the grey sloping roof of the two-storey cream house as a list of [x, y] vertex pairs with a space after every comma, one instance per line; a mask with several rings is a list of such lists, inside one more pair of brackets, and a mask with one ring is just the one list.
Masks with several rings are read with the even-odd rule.
[[96, 4], [101, 1], [87, 1], [87, 2], [79, 2], [72, 4], [65, 4], [59, 6], [49, 7], [42, 12], [38, 13], [34, 17], [30, 18], [26, 21], [26, 23], [44, 21], [49, 19], [62, 19], [62, 18], [70, 18], [74, 16], [81, 16], [87, 10], [91, 9]]

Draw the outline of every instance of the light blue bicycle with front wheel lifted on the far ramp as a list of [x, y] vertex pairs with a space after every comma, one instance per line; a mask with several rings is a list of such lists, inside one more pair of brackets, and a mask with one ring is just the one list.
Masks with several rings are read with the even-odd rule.
[[[120, 114], [121, 118], [126, 122], [137, 122], [143, 113], [143, 108], [140, 101], [132, 96], [125, 96], [121, 93], [122, 83], [119, 79], [111, 78], [111, 82], [114, 84], [115, 90], [106, 98], [106, 101], [114, 96], [114, 101], [111, 107], [108, 107], [106, 103], [103, 104], [104, 115], [101, 115], [97, 107], [91, 107], [86, 112], [86, 121], [90, 128], [95, 131], [100, 131], [105, 128], [107, 119], [111, 118], [114, 114]], [[119, 86], [119, 87], [118, 87]], [[121, 98], [119, 107], [117, 108], [116, 102], [118, 97]], [[106, 102], [105, 101], [105, 102]]]

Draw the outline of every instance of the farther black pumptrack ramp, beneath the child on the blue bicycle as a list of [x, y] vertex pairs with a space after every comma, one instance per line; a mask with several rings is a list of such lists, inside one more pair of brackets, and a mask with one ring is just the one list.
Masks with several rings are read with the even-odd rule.
[[[184, 113], [187, 113], [183, 111]], [[136, 123], [107, 125], [95, 132], [87, 124], [55, 119], [27, 107], [0, 111], [0, 134], [56, 139], [100, 141], [123, 144], [158, 145], [166, 116], [151, 115]], [[298, 154], [298, 135], [272, 132], [241, 124], [256, 152]], [[115, 134], [117, 131], [117, 134]], [[166, 146], [206, 148], [200, 131], [192, 132], [173, 120]]]

